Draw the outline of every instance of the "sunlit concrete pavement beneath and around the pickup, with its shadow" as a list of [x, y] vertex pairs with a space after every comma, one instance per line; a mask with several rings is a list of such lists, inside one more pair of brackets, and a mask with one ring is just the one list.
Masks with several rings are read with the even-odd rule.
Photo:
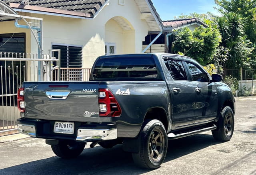
[[[0, 137], [0, 175], [256, 175], [256, 97], [237, 98], [235, 132], [230, 142], [210, 132], [168, 142], [159, 169], [139, 169], [122, 147], [84, 149], [76, 159], [60, 159], [44, 140], [23, 135]], [[17, 139], [17, 140], [16, 140]]]

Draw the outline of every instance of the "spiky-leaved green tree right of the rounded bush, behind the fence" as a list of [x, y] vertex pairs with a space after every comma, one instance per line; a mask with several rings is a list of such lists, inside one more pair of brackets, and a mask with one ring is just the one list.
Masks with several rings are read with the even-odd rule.
[[228, 12], [221, 17], [216, 17], [214, 24], [222, 35], [220, 45], [229, 50], [228, 59], [223, 65], [224, 68], [250, 66], [250, 55], [253, 49], [252, 43], [244, 32], [246, 20], [242, 18], [242, 15]]

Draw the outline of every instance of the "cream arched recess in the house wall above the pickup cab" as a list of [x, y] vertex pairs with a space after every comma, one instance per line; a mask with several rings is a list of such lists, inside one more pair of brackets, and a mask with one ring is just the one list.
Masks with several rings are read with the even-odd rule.
[[105, 24], [105, 54], [135, 52], [135, 31], [122, 16], [115, 16]]

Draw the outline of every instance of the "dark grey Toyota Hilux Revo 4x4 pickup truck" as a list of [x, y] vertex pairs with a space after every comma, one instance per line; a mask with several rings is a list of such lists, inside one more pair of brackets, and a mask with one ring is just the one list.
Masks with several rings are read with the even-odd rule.
[[235, 99], [222, 76], [173, 54], [98, 57], [88, 82], [24, 82], [18, 90], [18, 131], [44, 138], [73, 158], [96, 144], [123, 144], [141, 167], [164, 161], [168, 140], [212, 130], [234, 131]]

